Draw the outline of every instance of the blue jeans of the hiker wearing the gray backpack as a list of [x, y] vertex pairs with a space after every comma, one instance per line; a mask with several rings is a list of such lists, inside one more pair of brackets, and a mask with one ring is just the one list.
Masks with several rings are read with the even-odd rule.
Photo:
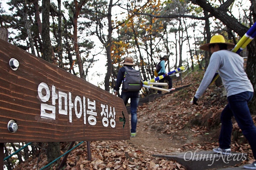
[[121, 98], [123, 99], [125, 105], [127, 104], [128, 99], [131, 99], [131, 133], [135, 133], [137, 127], [137, 107], [140, 100], [140, 93], [122, 91]]

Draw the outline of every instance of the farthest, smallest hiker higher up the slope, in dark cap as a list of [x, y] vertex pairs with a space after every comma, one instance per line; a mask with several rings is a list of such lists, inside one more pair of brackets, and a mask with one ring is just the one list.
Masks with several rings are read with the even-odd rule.
[[[164, 77], [163, 79], [160, 79], [159, 82], [164, 82], [164, 80], [166, 80], [169, 83], [169, 88], [168, 88], [169, 91], [175, 90], [175, 88], [172, 88], [172, 78], [168, 75], [168, 73], [166, 72], [166, 69], [165, 69], [165, 62], [168, 60], [168, 56], [165, 55], [160, 60], [161, 60], [160, 61], [160, 71], [158, 71], [158, 69], [157, 69], [157, 74], [158, 74], [158, 76], [165, 74], [166, 77]], [[158, 87], [162, 88], [161, 85], [159, 85]], [[162, 91], [159, 91], [159, 90], [157, 91], [157, 94], [161, 94], [161, 93], [162, 93]]]

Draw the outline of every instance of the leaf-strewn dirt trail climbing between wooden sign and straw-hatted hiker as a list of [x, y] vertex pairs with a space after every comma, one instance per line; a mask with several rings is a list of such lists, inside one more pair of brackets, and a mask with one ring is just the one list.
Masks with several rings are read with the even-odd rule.
[[[184, 127], [185, 120], [182, 116], [186, 116], [187, 113], [178, 111], [178, 108], [191, 106], [172, 106], [168, 102], [162, 102], [171, 101], [171, 99], [174, 99], [173, 96], [167, 94], [143, 105], [141, 108], [139, 107], [137, 111], [137, 136], [131, 137], [127, 142], [135, 148], [151, 151], [152, 154], [183, 152], [193, 150], [195, 146], [204, 146], [205, 142], [209, 143], [210, 136], [203, 135], [203, 132], [201, 135], [196, 135], [198, 130]], [[186, 109], [189, 110], [190, 108]], [[177, 128], [178, 122], [183, 122], [181, 124], [184, 126]], [[165, 131], [165, 129], [168, 130]]]

